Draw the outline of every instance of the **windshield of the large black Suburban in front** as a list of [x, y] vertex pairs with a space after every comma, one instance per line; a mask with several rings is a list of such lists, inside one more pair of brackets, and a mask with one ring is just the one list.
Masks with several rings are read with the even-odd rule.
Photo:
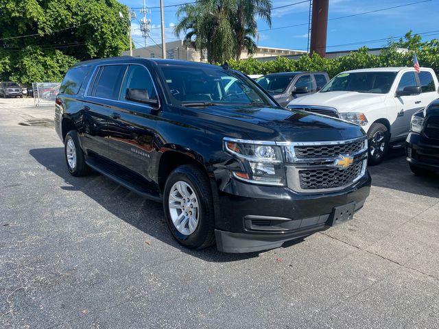
[[163, 65], [161, 71], [174, 106], [274, 105], [254, 82], [231, 70]]

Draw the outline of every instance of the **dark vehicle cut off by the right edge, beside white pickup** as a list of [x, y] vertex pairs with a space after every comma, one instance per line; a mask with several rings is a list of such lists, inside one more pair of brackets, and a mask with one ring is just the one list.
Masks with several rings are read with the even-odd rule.
[[415, 175], [439, 173], [439, 99], [413, 114], [405, 154]]

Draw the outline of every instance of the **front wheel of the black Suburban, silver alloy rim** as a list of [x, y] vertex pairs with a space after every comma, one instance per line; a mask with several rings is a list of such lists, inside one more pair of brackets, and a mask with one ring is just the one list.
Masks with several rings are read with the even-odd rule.
[[[174, 207], [170, 206], [170, 199]], [[182, 204], [183, 199], [185, 204]], [[194, 208], [196, 210], [191, 213]], [[169, 174], [163, 193], [163, 211], [171, 234], [181, 245], [204, 249], [215, 243], [211, 185], [206, 173], [197, 165], [185, 164]]]

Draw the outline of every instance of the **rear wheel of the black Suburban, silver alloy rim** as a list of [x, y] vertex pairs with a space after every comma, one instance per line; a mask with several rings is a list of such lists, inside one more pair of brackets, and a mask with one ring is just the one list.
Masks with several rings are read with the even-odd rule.
[[80, 147], [78, 133], [75, 130], [68, 132], [64, 139], [64, 156], [71, 175], [80, 177], [90, 172], [90, 167], [85, 163], [84, 152]]

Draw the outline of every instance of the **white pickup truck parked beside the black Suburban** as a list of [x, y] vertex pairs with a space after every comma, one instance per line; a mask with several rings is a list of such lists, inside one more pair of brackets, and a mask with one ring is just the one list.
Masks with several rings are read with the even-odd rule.
[[390, 143], [404, 141], [412, 114], [439, 97], [432, 69], [385, 67], [342, 72], [318, 93], [289, 102], [287, 108], [338, 117], [368, 133], [369, 163], [379, 164]]

